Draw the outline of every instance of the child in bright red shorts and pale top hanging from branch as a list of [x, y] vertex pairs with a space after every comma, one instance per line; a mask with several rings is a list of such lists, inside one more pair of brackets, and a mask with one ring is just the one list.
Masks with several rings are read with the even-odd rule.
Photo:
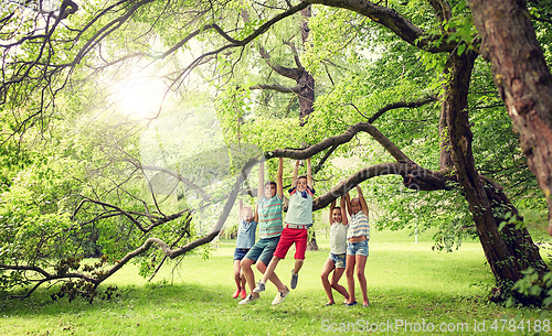
[[299, 171], [299, 160], [295, 162], [294, 178], [291, 189], [289, 191], [289, 206], [286, 215], [286, 227], [282, 231], [282, 237], [278, 247], [274, 252], [274, 257], [268, 264], [263, 280], [257, 283], [253, 290], [255, 293], [261, 293], [265, 290], [265, 283], [274, 273], [278, 262], [286, 258], [286, 253], [295, 242], [295, 268], [291, 270], [290, 286], [294, 290], [297, 286], [298, 273], [305, 260], [305, 251], [307, 250], [307, 228], [312, 225], [312, 174], [310, 167], [310, 159], [307, 159], [307, 176], [297, 177]]

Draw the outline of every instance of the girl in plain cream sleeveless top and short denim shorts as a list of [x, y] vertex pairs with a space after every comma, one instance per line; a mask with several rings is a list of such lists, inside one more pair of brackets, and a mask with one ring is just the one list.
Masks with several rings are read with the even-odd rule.
[[[323, 290], [329, 299], [326, 305], [336, 304], [331, 289], [338, 291], [343, 295], [346, 302], [349, 302], [349, 293], [347, 293], [344, 286], [338, 283], [346, 269], [347, 229], [349, 225], [346, 213], [346, 196], [341, 196], [340, 207], [336, 207], [336, 199], [331, 202], [330, 223], [330, 256], [323, 264], [322, 274], [320, 274]], [[330, 282], [328, 278], [331, 271], [333, 271], [333, 275]]]

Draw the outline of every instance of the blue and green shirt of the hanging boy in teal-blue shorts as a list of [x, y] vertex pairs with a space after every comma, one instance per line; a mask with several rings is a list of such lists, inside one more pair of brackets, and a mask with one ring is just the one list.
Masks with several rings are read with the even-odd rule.
[[265, 196], [258, 200], [258, 237], [274, 238], [282, 235], [284, 229], [282, 225], [282, 202], [283, 197], [278, 194], [268, 199]]

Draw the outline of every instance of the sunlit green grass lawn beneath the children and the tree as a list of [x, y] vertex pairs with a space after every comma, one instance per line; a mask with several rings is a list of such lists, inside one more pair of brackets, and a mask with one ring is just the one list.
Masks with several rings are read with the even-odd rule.
[[[431, 232], [414, 243], [404, 231], [374, 231], [367, 263], [370, 307], [323, 306], [327, 297], [319, 274], [329, 243], [319, 236], [321, 250], [307, 252], [297, 289], [277, 306], [270, 305], [276, 295], [272, 284], [252, 304], [241, 306], [232, 299], [234, 242], [221, 241], [209, 260], [188, 256], [176, 267], [168, 264], [150, 283], [134, 265], [125, 267], [108, 280], [120, 289], [120, 296], [108, 301], [53, 302], [51, 290], [22, 302], [0, 297], [0, 334], [348, 335], [372, 327], [376, 335], [470, 335], [484, 324], [486, 332], [477, 334], [533, 335], [528, 326], [533, 332], [535, 325], [550, 330], [545, 311], [487, 302], [492, 274], [479, 243], [464, 242], [453, 253], [435, 252]], [[285, 283], [291, 268], [288, 253], [277, 268]], [[344, 277], [340, 283], [346, 285]], [[357, 299], [362, 302], [358, 284]]]

